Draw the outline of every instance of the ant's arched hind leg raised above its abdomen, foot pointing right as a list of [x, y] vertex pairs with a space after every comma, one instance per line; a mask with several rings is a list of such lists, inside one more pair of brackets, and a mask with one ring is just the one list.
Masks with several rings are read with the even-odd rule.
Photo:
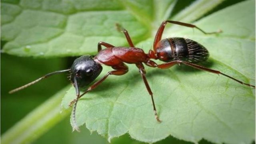
[[219, 30], [218, 32], [205, 32], [204, 30], [202, 30], [192, 24], [187, 24], [187, 23], [177, 22], [177, 21], [172, 21], [172, 20], [166, 20], [166, 21], [162, 22], [161, 26], [158, 28], [158, 31], [156, 32], [156, 36], [155, 36], [155, 40], [154, 40], [154, 52], [156, 52], [156, 44], [161, 40], [162, 34], [164, 32], [164, 28], [167, 23], [177, 24], [177, 25], [186, 26], [186, 27], [190, 27], [190, 28], [196, 28], [204, 34], [218, 34], [218, 33], [222, 32], [221, 30]]

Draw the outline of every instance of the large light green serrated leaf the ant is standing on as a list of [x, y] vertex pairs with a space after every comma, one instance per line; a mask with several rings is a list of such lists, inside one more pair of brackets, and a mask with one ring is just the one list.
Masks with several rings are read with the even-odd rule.
[[[241, 11], [246, 9], [246, 11]], [[196, 22], [208, 32], [219, 28], [223, 33], [204, 35], [191, 28], [176, 32], [166, 30], [165, 36], [184, 36], [202, 43], [210, 51], [203, 65], [254, 84], [254, 1], [230, 6]], [[153, 39], [139, 43], [145, 51]], [[154, 93], [162, 123], [154, 118], [150, 95], [138, 73], [129, 65], [129, 73], [110, 76], [97, 89], [78, 101], [78, 125], [111, 138], [125, 133], [136, 140], [156, 142], [172, 135], [178, 139], [198, 142], [202, 138], [215, 143], [250, 143], [255, 136], [255, 97], [252, 88], [232, 79], [199, 71], [182, 65], [160, 70], [146, 68], [147, 79]], [[104, 67], [102, 77], [111, 69]], [[70, 88], [63, 100], [75, 98]]]

